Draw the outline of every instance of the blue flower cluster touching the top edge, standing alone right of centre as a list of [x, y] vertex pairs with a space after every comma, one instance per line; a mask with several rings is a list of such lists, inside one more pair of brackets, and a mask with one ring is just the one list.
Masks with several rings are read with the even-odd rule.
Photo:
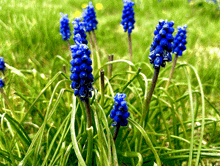
[[134, 2], [131, 0], [123, 0], [124, 3], [124, 9], [122, 10], [122, 21], [121, 25], [124, 28], [124, 31], [128, 31], [129, 34], [131, 34], [132, 29], [134, 29]]

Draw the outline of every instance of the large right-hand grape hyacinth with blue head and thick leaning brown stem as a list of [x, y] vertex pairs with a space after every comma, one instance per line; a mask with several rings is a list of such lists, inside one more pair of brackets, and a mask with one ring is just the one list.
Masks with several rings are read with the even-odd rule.
[[145, 128], [144, 121], [157, 83], [160, 66], [165, 67], [167, 61], [172, 61], [171, 52], [173, 50], [172, 42], [174, 40], [173, 32], [175, 30], [173, 25], [173, 21], [168, 22], [167, 20], [159, 20], [159, 24], [156, 26], [156, 30], [154, 31], [154, 41], [151, 44], [149, 55], [150, 63], [153, 64], [154, 67], [154, 75], [145, 101], [145, 111], [141, 117], [141, 125], [143, 125], [143, 128]]

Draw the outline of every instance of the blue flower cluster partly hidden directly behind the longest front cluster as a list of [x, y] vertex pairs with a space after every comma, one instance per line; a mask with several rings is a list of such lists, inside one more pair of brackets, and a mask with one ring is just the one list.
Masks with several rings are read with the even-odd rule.
[[[75, 21], [72, 22], [72, 24], [74, 25], [74, 31], [73, 31], [73, 40], [76, 40], [76, 34], [79, 34], [82, 38], [82, 43], [83, 44], [88, 44], [88, 41], [86, 40], [86, 33], [84, 31], [84, 25], [85, 23], [80, 22], [81, 21], [81, 17], [77, 17], [75, 18]], [[76, 43], [76, 42], [75, 42]]]

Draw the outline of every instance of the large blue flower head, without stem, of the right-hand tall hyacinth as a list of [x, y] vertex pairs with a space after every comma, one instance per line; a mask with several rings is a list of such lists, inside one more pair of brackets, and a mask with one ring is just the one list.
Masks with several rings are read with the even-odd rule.
[[160, 20], [159, 24], [156, 26], [154, 31], [154, 41], [150, 48], [150, 63], [153, 64], [154, 68], [159, 68], [160, 66], [165, 67], [166, 61], [172, 61], [171, 52], [173, 50], [172, 42], [173, 38], [173, 28], [174, 22], [167, 20]]

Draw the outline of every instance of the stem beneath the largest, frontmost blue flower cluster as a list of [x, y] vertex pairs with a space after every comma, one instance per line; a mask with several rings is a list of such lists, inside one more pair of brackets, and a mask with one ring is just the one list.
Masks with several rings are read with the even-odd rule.
[[88, 147], [87, 147], [87, 156], [86, 156], [86, 165], [92, 165], [92, 149], [93, 149], [93, 127], [92, 127], [92, 113], [91, 107], [89, 104], [89, 98], [85, 99], [85, 108], [87, 115], [87, 133], [88, 133]]

